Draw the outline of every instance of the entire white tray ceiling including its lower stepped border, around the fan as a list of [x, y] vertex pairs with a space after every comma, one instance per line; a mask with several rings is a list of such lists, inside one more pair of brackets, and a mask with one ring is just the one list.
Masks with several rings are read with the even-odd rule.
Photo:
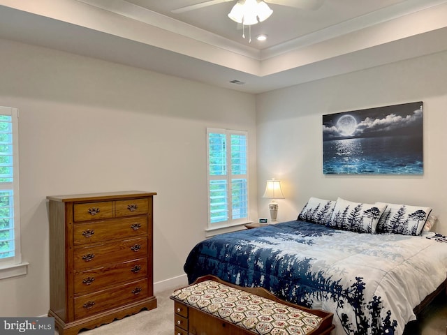
[[447, 50], [447, 0], [281, 1], [316, 0], [266, 0], [251, 43], [235, 1], [171, 11], [204, 0], [0, 0], [0, 37], [254, 94]]

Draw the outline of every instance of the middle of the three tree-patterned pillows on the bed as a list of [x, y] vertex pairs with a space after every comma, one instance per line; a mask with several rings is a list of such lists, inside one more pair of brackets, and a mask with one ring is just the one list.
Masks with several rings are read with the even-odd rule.
[[386, 204], [362, 204], [338, 198], [329, 226], [351, 232], [375, 234], [377, 223], [385, 209]]

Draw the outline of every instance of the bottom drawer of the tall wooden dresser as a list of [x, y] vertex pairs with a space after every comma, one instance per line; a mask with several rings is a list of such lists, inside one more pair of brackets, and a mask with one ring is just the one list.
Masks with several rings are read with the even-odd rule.
[[147, 297], [147, 279], [75, 298], [75, 318], [86, 318]]

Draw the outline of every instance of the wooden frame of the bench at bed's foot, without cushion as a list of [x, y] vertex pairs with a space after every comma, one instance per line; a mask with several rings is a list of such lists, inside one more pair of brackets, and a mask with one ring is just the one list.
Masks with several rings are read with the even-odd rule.
[[[332, 329], [335, 329], [335, 326], [332, 325], [333, 314], [325, 311], [321, 311], [318, 309], [305, 308], [302, 306], [298, 306], [295, 304], [291, 304], [288, 301], [284, 301], [278, 299], [274, 295], [272, 295], [268, 290], [264, 288], [242, 288], [237, 285], [233, 285], [230, 283], [226, 283], [225, 281], [221, 281], [221, 279], [215, 276], [203, 276], [198, 278], [193, 284], [200, 283], [202, 281], [216, 281], [217, 283], [221, 283], [224, 285], [228, 285], [232, 288], [236, 288], [238, 290], [243, 290], [245, 292], [249, 292], [254, 295], [258, 295], [260, 297], [264, 297], [270, 299], [272, 301], [277, 301], [280, 304], [284, 304], [287, 306], [292, 306], [294, 308], [298, 308], [302, 311], [307, 311], [308, 313], [312, 313], [314, 315], [318, 315], [321, 320], [320, 325], [316, 327], [312, 332], [309, 332], [307, 335], [329, 335], [332, 332]], [[193, 285], [191, 284], [191, 285]], [[190, 306], [189, 304], [185, 304], [182, 301], [171, 297], [174, 302], [174, 311], [175, 311], [175, 335], [253, 335], [257, 334], [255, 332], [251, 332], [247, 329], [244, 329], [238, 325], [235, 325], [227, 320], [223, 320], [218, 318], [217, 316], [211, 315], [209, 313], [205, 313], [200, 311], [200, 309]]]

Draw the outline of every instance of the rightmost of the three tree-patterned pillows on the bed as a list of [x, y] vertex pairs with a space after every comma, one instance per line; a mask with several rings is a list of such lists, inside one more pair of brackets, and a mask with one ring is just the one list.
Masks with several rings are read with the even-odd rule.
[[406, 204], [385, 204], [386, 210], [383, 212], [377, 225], [377, 232], [390, 232], [402, 235], [420, 235], [425, 221], [432, 209], [430, 207], [408, 206]]

